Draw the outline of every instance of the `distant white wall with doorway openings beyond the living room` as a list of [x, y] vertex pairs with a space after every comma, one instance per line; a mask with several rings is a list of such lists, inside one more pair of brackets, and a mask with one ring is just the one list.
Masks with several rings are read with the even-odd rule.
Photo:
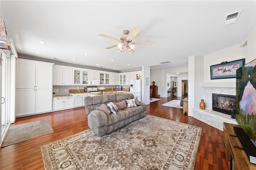
[[167, 90], [170, 88], [167, 87], [167, 82], [170, 82], [170, 77], [177, 77], [177, 97], [181, 97], [181, 81], [188, 79], [188, 66], [151, 69], [150, 85], [154, 81], [156, 86], [158, 86], [158, 95], [160, 97], [167, 97]]

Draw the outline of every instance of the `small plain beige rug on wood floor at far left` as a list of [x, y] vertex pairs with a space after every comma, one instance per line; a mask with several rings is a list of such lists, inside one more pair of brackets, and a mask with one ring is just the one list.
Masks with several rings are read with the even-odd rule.
[[37, 138], [52, 132], [52, 127], [47, 119], [20, 125], [11, 125], [2, 147]]

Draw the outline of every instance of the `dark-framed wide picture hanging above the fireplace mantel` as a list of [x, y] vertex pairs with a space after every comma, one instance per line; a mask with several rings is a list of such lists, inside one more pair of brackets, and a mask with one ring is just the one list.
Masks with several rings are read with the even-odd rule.
[[245, 64], [245, 59], [238, 59], [234, 61], [222, 61], [220, 64], [211, 65], [211, 79], [229, 79], [236, 78], [236, 69]]

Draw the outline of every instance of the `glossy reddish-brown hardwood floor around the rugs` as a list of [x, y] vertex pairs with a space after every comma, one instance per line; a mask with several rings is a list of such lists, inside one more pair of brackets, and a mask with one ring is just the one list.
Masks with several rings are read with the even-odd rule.
[[[184, 98], [184, 97], [182, 97]], [[177, 98], [174, 98], [177, 99]], [[180, 99], [180, 98], [178, 98]], [[182, 109], [162, 106], [172, 98], [161, 98], [147, 105], [147, 113], [158, 117], [202, 127], [195, 170], [228, 170], [225, 159], [223, 132], [193, 117], [182, 114]], [[47, 134], [0, 150], [1, 170], [43, 170], [40, 146], [88, 129], [84, 107], [45, 113], [16, 119], [15, 124], [48, 119], [54, 133]]]

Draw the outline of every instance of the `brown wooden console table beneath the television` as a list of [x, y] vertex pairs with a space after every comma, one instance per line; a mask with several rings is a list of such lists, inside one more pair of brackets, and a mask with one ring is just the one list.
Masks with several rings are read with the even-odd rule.
[[[226, 160], [228, 166], [233, 166], [234, 170], [256, 170], [256, 164], [250, 162], [243, 148], [240, 140], [236, 137], [234, 127], [240, 127], [230, 123], [224, 123], [224, 150], [226, 153]], [[235, 147], [236, 146], [236, 147]], [[233, 164], [230, 162], [230, 158], [233, 158]]]

